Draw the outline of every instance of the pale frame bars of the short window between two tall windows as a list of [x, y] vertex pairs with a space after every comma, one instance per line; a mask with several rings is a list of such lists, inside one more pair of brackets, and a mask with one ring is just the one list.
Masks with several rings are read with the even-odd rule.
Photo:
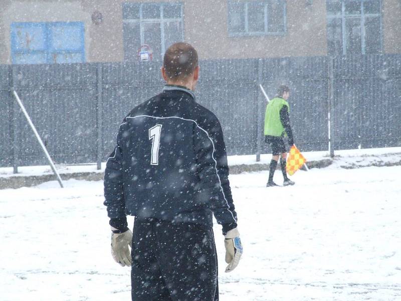
[[261, 37], [261, 36], [285, 36], [287, 34], [287, 1], [286, 0], [279, 0], [283, 4], [283, 24], [284, 24], [284, 31], [283, 32], [269, 32], [269, 18], [268, 18], [268, 4], [271, 2], [270, 0], [261, 0], [259, 2], [264, 3], [264, 32], [252, 32], [249, 31], [249, 20], [248, 20], [248, 4], [254, 1], [247, 0], [247, 1], [239, 1], [239, 0], [228, 0], [228, 4], [230, 3], [241, 3], [244, 4], [244, 32], [230, 32], [229, 22], [230, 22], [230, 9], [227, 6], [227, 32], [229, 37]]

